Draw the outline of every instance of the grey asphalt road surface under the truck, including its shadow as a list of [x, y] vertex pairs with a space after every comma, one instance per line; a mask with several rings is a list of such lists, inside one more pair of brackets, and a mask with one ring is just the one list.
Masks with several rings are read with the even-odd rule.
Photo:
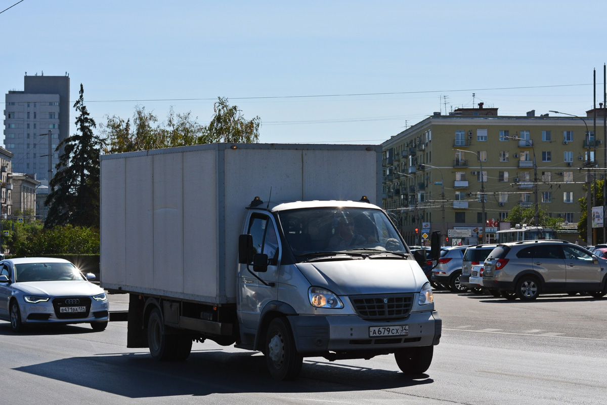
[[[425, 375], [393, 356], [308, 358], [279, 383], [263, 355], [195, 343], [186, 362], [126, 348], [126, 322], [35, 328], [0, 321], [0, 404], [602, 404], [607, 398], [607, 298], [506, 301], [437, 291], [443, 338]], [[112, 310], [126, 295], [110, 296]]]

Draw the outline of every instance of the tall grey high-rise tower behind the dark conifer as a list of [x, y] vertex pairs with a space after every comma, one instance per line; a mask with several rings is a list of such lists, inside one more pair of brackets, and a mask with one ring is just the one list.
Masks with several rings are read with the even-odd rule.
[[24, 90], [9, 90], [5, 101], [4, 146], [13, 153], [13, 171], [48, 184], [59, 162], [55, 149], [69, 137], [69, 76], [25, 75]]

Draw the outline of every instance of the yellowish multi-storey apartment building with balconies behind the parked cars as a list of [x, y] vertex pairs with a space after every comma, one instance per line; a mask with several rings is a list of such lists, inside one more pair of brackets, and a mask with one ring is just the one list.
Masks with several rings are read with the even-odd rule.
[[585, 168], [603, 167], [603, 110], [597, 112], [598, 137], [594, 111], [586, 117], [536, 117], [534, 111], [510, 117], [479, 103], [449, 115], [434, 113], [382, 144], [383, 207], [395, 214], [412, 245], [424, 239], [424, 222], [430, 232], [444, 235], [470, 230], [470, 237], [449, 245], [492, 242], [510, 209], [534, 206], [536, 188], [538, 205], [574, 226], [580, 219], [578, 199], [586, 196]]

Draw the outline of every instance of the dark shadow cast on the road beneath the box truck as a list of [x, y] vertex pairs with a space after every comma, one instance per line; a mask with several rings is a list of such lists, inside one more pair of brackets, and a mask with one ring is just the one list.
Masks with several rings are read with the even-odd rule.
[[300, 377], [287, 382], [271, 378], [260, 353], [222, 350], [198, 350], [185, 362], [157, 362], [148, 353], [124, 353], [66, 358], [15, 370], [127, 398], [364, 391], [433, 383], [426, 374], [411, 378], [390, 370], [314, 360], [304, 360]]

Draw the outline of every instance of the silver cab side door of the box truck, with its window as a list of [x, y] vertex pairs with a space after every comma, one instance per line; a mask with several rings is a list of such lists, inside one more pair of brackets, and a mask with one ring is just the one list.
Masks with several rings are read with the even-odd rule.
[[[247, 233], [253, 237], [256, 253], [268, 255], [267, 271], [253, 271], [253, 264], [239, 264], [238, 315], [241, 326], [249, 332], [257, 329], [260, 313], [268, 301], [278, 296], [278, 269], [282, 252], [277, 238], [277, 228], [272, 217], [252, 213]], [[259, 277], [259, 281], [249, 270]]]

